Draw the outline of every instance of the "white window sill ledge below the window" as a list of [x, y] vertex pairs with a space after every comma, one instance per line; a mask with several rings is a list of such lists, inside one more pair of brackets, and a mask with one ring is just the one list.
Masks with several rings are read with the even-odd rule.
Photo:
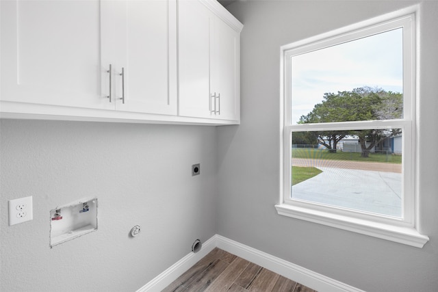
[[423, 248], [424, 244], [429, 240], [429, 237], [421, 235], [415, 228], [370, 222], [355, 217], [316, 211], [289, 204], [277, 204], [275, 209], [279, 215], [411, 245], [415, 246], [415, 248]]

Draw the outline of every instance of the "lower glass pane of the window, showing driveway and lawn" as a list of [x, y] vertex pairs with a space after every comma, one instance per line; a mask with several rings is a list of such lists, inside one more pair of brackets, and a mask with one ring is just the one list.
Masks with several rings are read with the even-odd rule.
[[402, 217], [402, 129], [292, 133], [291, 198]]

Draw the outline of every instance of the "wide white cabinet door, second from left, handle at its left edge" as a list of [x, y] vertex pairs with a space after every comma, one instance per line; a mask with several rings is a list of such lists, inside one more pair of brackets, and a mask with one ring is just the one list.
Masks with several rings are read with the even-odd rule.
[[176, 115], [176, 0], [114, 3], [116, 109]]

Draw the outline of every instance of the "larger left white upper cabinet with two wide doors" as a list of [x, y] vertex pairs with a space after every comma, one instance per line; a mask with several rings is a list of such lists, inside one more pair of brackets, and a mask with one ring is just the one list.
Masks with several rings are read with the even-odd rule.
[[177, 114], [176, 0], [1, 5], [3, 101]]

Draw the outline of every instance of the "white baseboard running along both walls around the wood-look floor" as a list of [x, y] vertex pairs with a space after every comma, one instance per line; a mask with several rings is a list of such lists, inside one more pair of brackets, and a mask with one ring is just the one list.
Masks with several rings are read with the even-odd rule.
[[144, 285], [144, 287], [140, 288], [137, 292], [162, 291], [162, 289], [166, 288], [170, 283], [176, 280], [185, 271], [190, 269], [192, 265], [216, 247], [320, 292], [364, 292], [361, 289], [333, 280], [332, 278], [315, 273], [314, 271], [305, 269], [299, 265], [289, 263], [288, 261], [267, 254], [266, 252], [261, 252], [260, 250], [251, 248], [248, 245], [238, 243], [227, 237], [222, 237], [221, 235], [214, 235], [214, 237], [205, 241], [199, 252], [196, 252], [196, 254], [192, 252], [187, 256], [184, 256], [177, 263], [162, 272], [162, 274], [153, 278], [151, 282]]

